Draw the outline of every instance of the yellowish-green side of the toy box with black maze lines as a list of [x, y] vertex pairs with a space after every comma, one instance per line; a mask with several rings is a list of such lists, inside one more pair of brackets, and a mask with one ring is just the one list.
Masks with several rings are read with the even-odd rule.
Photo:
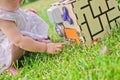
[[86, 44], [105, 37], [118, 26], [120, 9], [117, 0], [76, 0], [72, 6]]

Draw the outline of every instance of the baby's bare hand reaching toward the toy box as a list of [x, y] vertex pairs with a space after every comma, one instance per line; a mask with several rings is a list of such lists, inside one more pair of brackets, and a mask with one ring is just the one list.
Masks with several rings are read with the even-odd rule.
[[56, 54], [58, 51], [62, 51], [65, 43], [47, 43], [47, 53]]

